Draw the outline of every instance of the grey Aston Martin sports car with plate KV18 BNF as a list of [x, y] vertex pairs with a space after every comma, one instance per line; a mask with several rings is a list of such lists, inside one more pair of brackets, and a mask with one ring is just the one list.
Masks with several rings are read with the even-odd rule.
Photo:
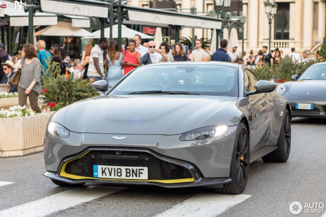
[[205, 186], [243, 192], [249, 164], [285, 162], [289, 102], [243, 65], [169, 62], [138, 67], [103, 96], [55, 112], [44, 173], [60, 186], [85, 182]]

